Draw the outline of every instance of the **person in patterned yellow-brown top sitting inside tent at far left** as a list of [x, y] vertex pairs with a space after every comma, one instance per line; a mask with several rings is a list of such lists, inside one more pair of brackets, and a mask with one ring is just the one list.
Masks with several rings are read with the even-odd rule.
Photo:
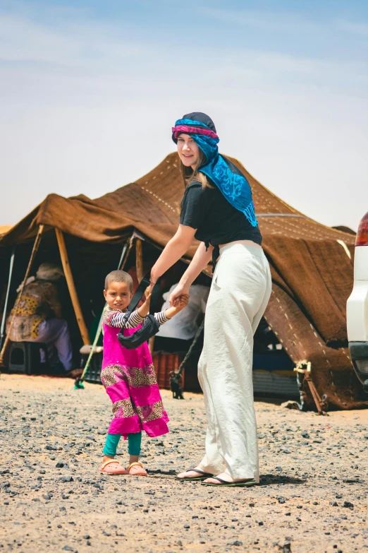
[[[73, 369], [72, 346], [68, 323], [61, 316], [59, 292], [54, 283], [63, 277], [63, 269], [53, 263], [41, 263], [36, 276], [27, 280], [16, 309], [13, 307], [7, 321], [7, 331], [13, 342], [38, 342], [55, 346], [63, 369], [68, 376], [79, 376]], [[17, 292], [19, 292], [20, 287]], [[78, 374], [77, 374], [78, 373]]]

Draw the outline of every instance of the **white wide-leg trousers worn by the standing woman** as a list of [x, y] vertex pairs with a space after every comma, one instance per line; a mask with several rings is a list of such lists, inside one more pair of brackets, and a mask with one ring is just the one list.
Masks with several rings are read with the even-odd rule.
[[199, 468], [259, 482], [254, 413], [253, 335], [271, 295], [262, 249], [228, 244], [220, 249], [204, 321], [198, 378], [207, 415], [206, 454]]

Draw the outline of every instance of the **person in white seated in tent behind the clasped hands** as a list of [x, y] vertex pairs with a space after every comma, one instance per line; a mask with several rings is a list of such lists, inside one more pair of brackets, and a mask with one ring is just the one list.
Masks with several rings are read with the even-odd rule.
[[[161, 309], [168, 309], [170, 307], [168, 298], [176, 286], [176, 284], [171, 286], [170, 290], [163, 295], [165, 302]], [[197, 319], [206, 310], [208, 295], [208, 286], [200, 284], [190, 286], [188, 305], [173, 319], [170, 319], [170, 321], [160, 327], [154, 340], [155, 351], [162, 350], [173, 353], [185, 352], [189, 349], [199, 328]]]

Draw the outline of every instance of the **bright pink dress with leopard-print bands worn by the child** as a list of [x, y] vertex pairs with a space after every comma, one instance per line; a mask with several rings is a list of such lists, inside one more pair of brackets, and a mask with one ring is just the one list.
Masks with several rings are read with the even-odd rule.
[[[168, 416], [162, 405], [152, 357], [147, 343], [127, 350], [118, 342], [120, 328], [111, 326], [116, 311], [104, 315], [104, 357], [101, 381], [113, 403], [109, 434], [135, 434], [145, 430], [152, 438], [168, 432]], [[124, 335], [136, 328], [125, 328]]]

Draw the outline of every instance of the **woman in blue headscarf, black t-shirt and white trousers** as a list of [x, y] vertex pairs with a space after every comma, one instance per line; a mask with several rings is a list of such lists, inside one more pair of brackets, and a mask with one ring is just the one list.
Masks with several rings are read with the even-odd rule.
[[203, 113], [184, 115], [173, 128], [173, 141], [186, 189], [178, 231], [152, 268], [152, 283], [185, 254], [193, 238], [201, 244], [171, 293], [171, 304], [188, 294], [211, 258], [216, 265], [198, 366], [207, 415], [206, 453], [195, 469], [178, 478], [250, 486], [259, 482], [253, 335], [271, 294], [269, 263], [250, 185], [219, 155], [213, 121]]

